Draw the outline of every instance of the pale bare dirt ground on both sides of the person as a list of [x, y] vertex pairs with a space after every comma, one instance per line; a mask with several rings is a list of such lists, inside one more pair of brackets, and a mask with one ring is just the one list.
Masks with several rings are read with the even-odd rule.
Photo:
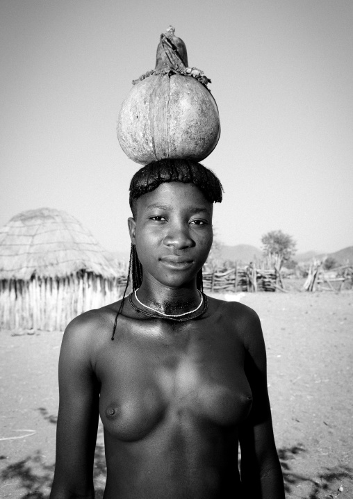
[[[247, 293], [261, 318], [286, 498], [353, 497], [353, 291]], [[59, 332], [1, 331], [0, 497], [47, 498], [54, 473]], [[101, 425], [96, 496], [104, 491]], [[331, 495], [330, 495], [331, 494]]]

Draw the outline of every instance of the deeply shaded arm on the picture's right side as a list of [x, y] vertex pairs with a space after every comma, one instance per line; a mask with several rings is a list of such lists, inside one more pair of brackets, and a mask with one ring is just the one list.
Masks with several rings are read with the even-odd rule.
[[274, 444], [268, 400], [266, 352], [260, 320], [249, 311], [243, 323], [245, 374], [252, 388], [252, 411], [240, 427], [240, 475], [245, 497], [284, 499], [284, 482]]

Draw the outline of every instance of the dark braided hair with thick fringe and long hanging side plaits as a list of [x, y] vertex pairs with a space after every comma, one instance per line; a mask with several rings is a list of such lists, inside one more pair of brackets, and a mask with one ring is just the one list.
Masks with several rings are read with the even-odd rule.
[[[162, 159], [140, 168], [131, 179], [129, 203], [134, 217], [136, 217], [137, 199], [165, 182], [195, 183], [195, 186], [202, 191], [209, 202], [220, 203], [222, 201], [222, 184], [215, 174], [204, 165], [190, 159]], [[115, 316], [112, 340], [114, 340], [117, 317], [122, 313], [130, 280], [132, 291], [136, 291], [142, 284], [142, 275], [142, 265], [138, 259], [136, 246], [131, 244], [127, 281], [122, 302]], [[196, 286], [199, 291], [203, 291], [202, 269], [197, 272]]]

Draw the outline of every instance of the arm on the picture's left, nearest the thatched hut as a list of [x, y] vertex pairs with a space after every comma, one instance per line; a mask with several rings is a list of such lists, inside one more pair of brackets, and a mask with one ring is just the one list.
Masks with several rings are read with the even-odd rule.
[[92, 312], [67, 326], [59, 359], [56, 466], [50, 499], [94, 498], [99, 383], [92, 370]]

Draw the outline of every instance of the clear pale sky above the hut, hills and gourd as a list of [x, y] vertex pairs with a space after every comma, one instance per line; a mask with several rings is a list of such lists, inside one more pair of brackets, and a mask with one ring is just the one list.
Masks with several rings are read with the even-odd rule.
[[117, 115], [170, 24], [220, 111], [203, 161], [224, 186], [217, 238], [261, 247], [281, 229], [299, 252], [353, 245], [351, 0], [1, 0], [0, 226], [47, 206], [129, 249], [140, 165]]

